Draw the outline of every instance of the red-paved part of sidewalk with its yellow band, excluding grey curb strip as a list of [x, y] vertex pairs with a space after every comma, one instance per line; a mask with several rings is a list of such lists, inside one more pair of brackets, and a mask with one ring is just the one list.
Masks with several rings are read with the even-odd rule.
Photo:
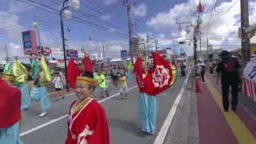
[[[256, 143], [255, 119], [238, 104], [237, 112], [224, 112], [221, 84], [206, 74], [206, 83], [198, 93], [198, 125], [201, 143]], [[231, 98], [231, 97], [230, 97]]]

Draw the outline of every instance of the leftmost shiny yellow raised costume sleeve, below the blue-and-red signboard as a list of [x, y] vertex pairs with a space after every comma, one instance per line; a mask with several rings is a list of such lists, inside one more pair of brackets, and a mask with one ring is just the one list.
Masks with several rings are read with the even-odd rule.
[[13, 66], [13, 73], [18, 83], [27, 82], [27, 70], [26, 67], [22, 65], [22, 62], [17, 60]]

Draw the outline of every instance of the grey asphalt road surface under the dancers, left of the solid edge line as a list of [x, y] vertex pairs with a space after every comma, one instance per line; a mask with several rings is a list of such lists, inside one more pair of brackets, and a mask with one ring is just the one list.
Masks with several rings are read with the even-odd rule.
[[[110, 127], [110, 143], [114, 144], [148, 144], [154, 143], [158, 132], [161, 129], [167, 114], [174, 104], [178, 93], [182, 89], [185, 77], [178, 77], [177, 82], [169, 90], [158, 96], [158, 118], [157, 130], [154, 135], [149, 136], [141, 132], [138, 122], [137, 96], [138, 87], [134, 78], [128, 83], [131, 88], [129, 98], [122, 100], [118, 91], [112, 90], [110, 95], [116, 95], [113, 98], [101, 102], [106, 110], [106, 115]], [[113, 89], [113, 86], [111, 86]], [[98, 90], [95, 98], [99, 101]], [[53, 102], [50, 113], [46, 117], [38, 118], [39, 106], [35, 104], [22, 113], [21, 138], [26, 144], [62, 144], [66, 140], [66, 114], [68, 114], [70, 103], [75, 99], [71, 94], [65, 100]], [[39, 126], [39, 127], [37, 127]], [[34, 130], [34, 128], [36, 130]]]

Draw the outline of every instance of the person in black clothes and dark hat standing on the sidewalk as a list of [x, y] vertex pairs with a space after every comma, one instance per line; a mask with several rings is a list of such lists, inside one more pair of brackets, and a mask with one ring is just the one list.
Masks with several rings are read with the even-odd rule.
[[226, 112], [229, 111], [228, 95], [231, 86], [231, 108], [235, 111], [238, 105], [238, 69], [241, 66], [235, 58], [231, 58], [231, 54], [227, 50], [223, 50], [219, 56], [222, 58], [222, 61], [218, 63], [216, 71], [218, 73], [217, 84], [218, 79], [222, 78], [222, 105]]

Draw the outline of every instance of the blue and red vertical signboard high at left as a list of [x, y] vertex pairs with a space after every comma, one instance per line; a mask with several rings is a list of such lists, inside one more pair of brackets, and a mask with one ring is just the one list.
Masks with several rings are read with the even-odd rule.
[[38, 54], [37, 37], [34, 30], [22, 32], [24, 54]]

